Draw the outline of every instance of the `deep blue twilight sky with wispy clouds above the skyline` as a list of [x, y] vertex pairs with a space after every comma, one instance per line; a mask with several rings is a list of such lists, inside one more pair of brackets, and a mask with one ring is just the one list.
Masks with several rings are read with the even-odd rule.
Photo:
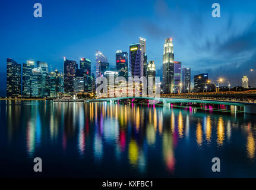
[[[43, 17], [34, 18], [41, 3]], [[220, 4], [221, 17], [211, 17]], [[46, 61], [62, 71], [63, 57], [85, 57], [95, 69], [95, 50], [115, 65], [116, 50], [128, 52], [138, 37], [147, 39], [148, 60], [162, 67], [163, 43], [173, 37], [175, 61], [191, 67], [192, 77], [208, 72], [241, 85], [256, 86], [256, 1], [210, 0], [2, 0], [0, 1], [0, 95], [5, 93], [6, 59]], [[223, 84], [227, 85], [227, 83]]]

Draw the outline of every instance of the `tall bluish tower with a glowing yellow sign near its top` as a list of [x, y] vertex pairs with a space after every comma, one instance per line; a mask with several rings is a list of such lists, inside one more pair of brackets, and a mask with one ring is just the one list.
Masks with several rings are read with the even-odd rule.
[[129, 45], [129, 76], [143, 77], [143, 53], [140, 43]]

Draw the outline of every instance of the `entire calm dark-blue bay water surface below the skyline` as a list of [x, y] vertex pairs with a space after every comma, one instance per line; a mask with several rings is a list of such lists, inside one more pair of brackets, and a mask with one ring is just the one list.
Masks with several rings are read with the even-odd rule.
[[[1, 177], [256, 177], [256, 117], [118, 103], [1, 100]], [[43, 172], [33, 172], [34, 157]], [[219, 157], [221, 172], [211, 171]]]

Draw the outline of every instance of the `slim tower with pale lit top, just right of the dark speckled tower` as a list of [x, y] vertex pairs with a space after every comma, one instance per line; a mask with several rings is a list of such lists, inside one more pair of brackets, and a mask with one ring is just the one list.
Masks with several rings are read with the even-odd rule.
[[90, 59], [80, 59], [80, 69], [84, 69], [84, 91], [91, 93], [91, 61]]

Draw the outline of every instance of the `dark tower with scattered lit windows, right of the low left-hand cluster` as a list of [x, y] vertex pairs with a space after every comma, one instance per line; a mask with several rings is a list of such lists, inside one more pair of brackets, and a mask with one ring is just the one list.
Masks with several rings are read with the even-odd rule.
[[74, 78], [77, 69], [77, 62], [64, 58], [64, 91], [65, 93], [74, 92]]

